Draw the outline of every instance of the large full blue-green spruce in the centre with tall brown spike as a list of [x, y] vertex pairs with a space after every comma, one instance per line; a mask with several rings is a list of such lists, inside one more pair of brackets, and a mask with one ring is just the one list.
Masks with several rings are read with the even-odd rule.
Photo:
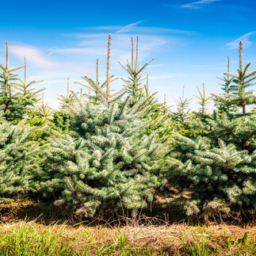
[[[168, 147], [145, 128], [158, 120], [145, 120], [151, 106], [143, 97], [123, 97], [126, 87], [111, 93], [109, 70], [106, 82], [83, 78], [94, 94], [66, 105], [71, 116], [69, 134], [53, 132], [47, 151], [41, 191], [46, 201], [67, 212], [93, 216], [96, 212], [136, 214], [153, 200], [161, 179]], [[134, 81], [131, 81], [131, 86]]]

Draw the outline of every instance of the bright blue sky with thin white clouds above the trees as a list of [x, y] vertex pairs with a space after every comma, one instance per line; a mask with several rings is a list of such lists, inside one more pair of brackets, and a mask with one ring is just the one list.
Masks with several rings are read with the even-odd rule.
[[[174, 97], [197, 94], [197, 86], [218, 93], [216, 77], [238, 67], [238, 42], [243, 40], [246, 62], [256, 63], [256, 2], [253, 0], [174, 1], [12, 1], [1, 3], [0, 62], [5, 41], [10, 44], [10, 65], [18, 66], [26, 55], [28, 76], [44, 79], [44, 98], [53, 108], [56, 94], [66, 94], [82, 75], [95, 77], [96, 59], [100, 78], [105, 79], [108, 34], [113, 36], [111, 73], [125, 72], [117, 64], [130, 57], [130, 38], [139, 36], [139, 64], [152, 58], [147, 69], [151, 91], [170, 105]], [[120, 88], [121, 81], [113, 84]], [[197, 108], [196, 100], [191, 103]]]

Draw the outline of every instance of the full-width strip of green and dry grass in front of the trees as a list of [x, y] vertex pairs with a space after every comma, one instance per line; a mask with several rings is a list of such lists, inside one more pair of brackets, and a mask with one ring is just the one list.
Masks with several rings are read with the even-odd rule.
[[0, 255], [256, 255], [256, 227], [0, 225]]

